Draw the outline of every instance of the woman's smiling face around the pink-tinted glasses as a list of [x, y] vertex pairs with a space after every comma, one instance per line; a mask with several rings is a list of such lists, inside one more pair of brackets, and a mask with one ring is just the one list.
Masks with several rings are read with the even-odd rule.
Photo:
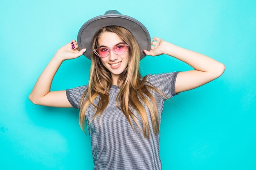
[[[101, 33], [101, 36], [98, 39], [99, 47], [107, 46], [110, 49], [112, 49], [113, 46], [119, 44], [120, 42], [126, 44], [116, 33], [112, 32]], [[107, 57], [100, 57], [100, 60], [103, 65], [110, 71], [113, 82], [116, 82], [119, 75], [125, 70], [128, 65], [129, 52], [127, 49], [124, 54], [117, 55], [113, 52], [113, 50], [110, 50]]]

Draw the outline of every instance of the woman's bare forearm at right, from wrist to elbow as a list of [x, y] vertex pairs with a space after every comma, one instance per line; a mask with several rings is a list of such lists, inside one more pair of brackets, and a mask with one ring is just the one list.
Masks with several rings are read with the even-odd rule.
[[222, 70], [225, 68], [224, 64], [206, 55], [184, 49], [169, 42], [166, 42], [163, 53], [171, 55], [189, 64], [191, 67], [195, 68], [195, 70], [198, 71], [218, 73], [222, 72]]

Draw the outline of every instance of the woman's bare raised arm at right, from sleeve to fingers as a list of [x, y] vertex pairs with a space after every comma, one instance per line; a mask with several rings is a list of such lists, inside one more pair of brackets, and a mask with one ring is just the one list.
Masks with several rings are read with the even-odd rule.
[[161, 54], [171, 55], [195, 68], [191, 71], [182, 71], [177, 74], [175, 93], [188, 91], [207, 84], [220, 77], [225, 71], [225, 65], [200, 53], [184, 49], [160, 38], [154, 37], [151, 50], [144, 52], [146, 55], [156, 56]]

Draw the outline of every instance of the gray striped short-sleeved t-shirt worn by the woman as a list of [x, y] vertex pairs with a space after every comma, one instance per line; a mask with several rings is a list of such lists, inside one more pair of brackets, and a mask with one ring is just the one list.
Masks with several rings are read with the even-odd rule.
[[[175, 93], [175, 81], [179, 72], [149, 74], [146, 81], [171, 98], [180, 94]], [[67, 99], [75, 109], [78, 108], [81, 96], [87, 87], [88, 85], [83, 85], [66, 89]], [[98, 126], [99, 116], [97, 116], [88, 127], [94, 170], [162, 170], [159, 155], [160, 136], [154, 135], [149, 109], [143, 104], [148, 116], [150, 139], [144, 138], [137, 124], [130, 118], [134, 131], [124, 113], [117, 108], [116, 97], [119, 91], [118, 86], [112, 85], [109, 92], [110, 101], [102, 113], [100, 126]], [[160, 125], [165, 99], [158, 92], [151, 89], [149, 91], [157, 103]], [[99, 96], [94, 103], [97, 104], [98, 100]], [[130, 109], [139, 118], [137, 122], [143, 128], [139, 114], [133, 108]], [[86, 124], [94, 114], [93, 107], [88, 106], [85, 113]]]

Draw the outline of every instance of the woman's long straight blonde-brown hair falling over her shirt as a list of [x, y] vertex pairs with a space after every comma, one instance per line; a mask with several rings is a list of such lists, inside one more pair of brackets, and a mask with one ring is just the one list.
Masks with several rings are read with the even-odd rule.
[[[140, 62], [140, 55], [142, 51], [140, 51], [139, 44], [135, 40], [132, 33], [130, 33], [130, 31], [128, 31], [127, 29], [121, 26], [106, 26], [99, 29], [94, 35], [93, 42], [92, 42], [92, 51], [91, 51], [92, 61], [91, 61], [91, 68], [90, 68], [89, 84], [88, 84], [88, 88], [85, 90], [85, 93], [81, 98], [81, 101], [79, 102], [79, 108], [81, 108], [79, 111], [80, 127], [83, 130], [83, 132], [85, 132], [84, 130], [85, 113], [89, 105], [92, 105], [94, 107], [94, 110], [96, 109], [96, 113], [90, 120], [88, 126], [93, 121], [93, 119], [95, 119], [95, 117], [97, 117], [98, 115], [99, 115], [99, 122], [100, 122], [101, 114], [103, 113], [103, 110], [108, 106], [108, 102], [109, 102], [108, 91], [112, 86], [111, 73], [110, 71], [108, 71], [108, 69], [106, 69], [105, 66], [103, 66], [100, 58], [97, 55], [95, 55], [93, 52], [93, 49], [98, 47], [99, 37], [101, 36], [102, 33], [106, 31], [116, 33], [126, 44], [129, 45], [128, 66], [123, 71], [123, 73], [121, 73], [121, 75], [119, 76], [119, 79], [117, 80], [117, 84], [119, 86], [120, 92], [117, 95], [116, 106], [120, 110], [122, 110], [128, 122], [130, 123], [131, 127], [132, 127], [132, 123], [131, 123], [130, 117], [135, 121], [135, 123], [137, 124], [141, 132], [144, 134], [145, 138], [146, 138], [146, 135], [148, 134], [148, 139], [149, 139], [150, 134], [149, 134], [149, 126], [148, 126], [148, 117], [146, 114], [146, 110], [142, 105], [142, 103], [139, 101], [139, 99], [141, 99], [141, 101], [144, 102], [144, 104], [146, 104], [146, 106], [149, 108], [154, 133], [159, 134], [160, 131], [159, 131], [157, 106], [156, 106], [156, 102], [153, 95], [151, 95], [148, 89], [153, 89], [155, 91], [158, 91], [166, 99], [167, 97], [149, 82], [148, 82], [149, 85], [145, 84], [147, 76], [142, 78], [139, 73], [139, 62]], [[88, 96], [85, 98], [87, 93], [88, 93]], [[95, 105], [93, 100], [97, 96], [99, 96], [99, 102], [97, 105]], [[150, 101], [146, 98], [146, 96], [150, 98], [153, 106], [150, 104]], [[120, 102], [120, 106], [118, 106], [118, 102]], [[132, 108], [134, 108], [141, 116], [141, 120], [143, 123], [143, 130], [137, 123], [135, 119], [136, 116], [131, 112], [129, 105]], [[133, 127], [132, 129], [134, 130]]]

